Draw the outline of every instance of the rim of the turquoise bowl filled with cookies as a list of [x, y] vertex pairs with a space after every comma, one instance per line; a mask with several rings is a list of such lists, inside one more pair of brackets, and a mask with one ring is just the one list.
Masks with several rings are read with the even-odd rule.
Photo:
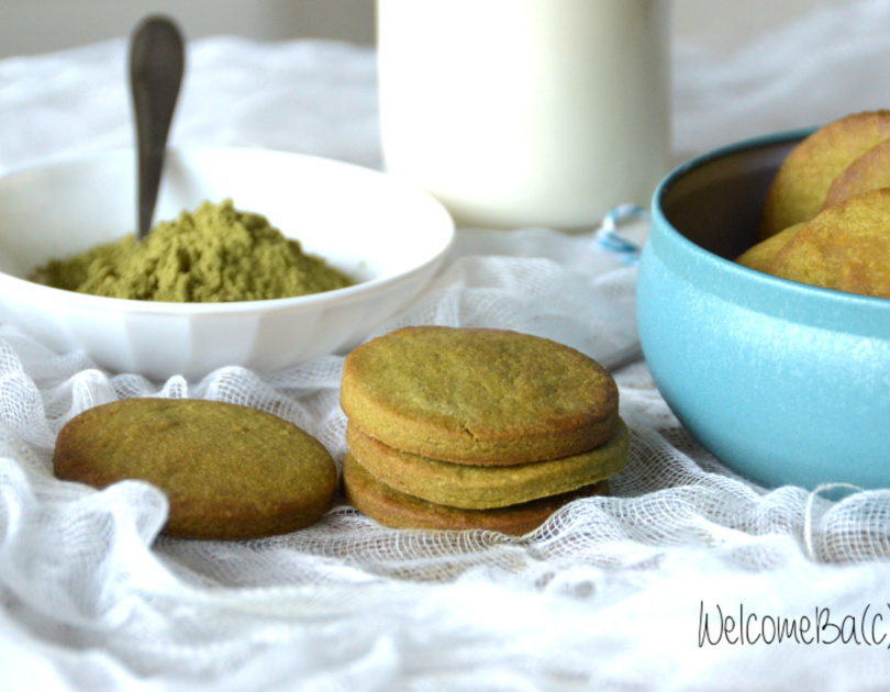
[[[683, 253], [688, 253], [697, 261], [711, 267], [712, 270], [724, 274], [728, 272], [731, 276], [735, 276], [738, 280], [747, 281], [753, 287], [756, 287], [761, 291], [780, 291], [780, 294], [785, 294], [789, 298], [793, 297], [798, 300], [827, 301], [826, 305], [839, 306], [843, 304], [846, 309], [849, 309], [849, 306], [853, 304], [868, 311], [890, 310], [890, 299], [887, 298], [849, 293], [846, 291], [838, 291], [835, 289], [802, 283], [800, 281], [792, 281], [790, 279], [783, 279], [763, 271], [757, 271], [756, 269], [745, 267], [731, 259], [721, 257], [720, 255], [716, 255], [687, 238], [674, 226], [664, 212], [663, 203], [665, 196], [669, 193], [670, 188], [683, 176], [692, 172], [693, 170], [717, 159], [746, 150], [766, 148], [776, 146], [778, 144], [790, 144], [794, 141], [801, 141], [808, 135], [812, 134], [815, 130], [816, 127], [799, 127], [756, 137], [748, 137], [738, 142], [722, 145], [682, 161], [660, 180], [653, 192], [650, 209], [652, 228], [656, 232], [656, 234], [663, 233], [665, 237], [675, 245], [675, 247], [681, 249]], [[772, 300], [775, 300], [775, 293], [772, 294]]]

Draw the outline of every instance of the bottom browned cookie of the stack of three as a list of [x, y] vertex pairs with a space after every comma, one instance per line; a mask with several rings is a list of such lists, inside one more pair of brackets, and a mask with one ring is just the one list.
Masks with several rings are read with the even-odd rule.
[[343, 459], [343, 491], [349, 503], [385, 526], [393, 528], [482, 528], [521, 536], [537, 528], [550, 514], [572, 500], [609, 492], [608, 481], [542, 500], [494, 510], [461, 510], [426, 502], [375, 479], [352, 455]]

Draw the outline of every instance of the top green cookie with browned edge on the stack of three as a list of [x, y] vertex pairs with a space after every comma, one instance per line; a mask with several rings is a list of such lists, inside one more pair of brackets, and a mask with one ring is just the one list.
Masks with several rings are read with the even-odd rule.
[[341, 405], [412, 454], [524, 464], [587, 451], [618, 423], [618, 387], [583, 354], [507, 330], [405, 327], [353, 350]]

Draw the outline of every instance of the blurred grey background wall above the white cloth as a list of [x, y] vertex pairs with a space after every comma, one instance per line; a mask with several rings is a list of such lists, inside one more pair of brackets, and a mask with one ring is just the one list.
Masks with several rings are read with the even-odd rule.
[[[596, 0], [591, 0], [596, 1]], [[716, 53], [819, 5], [849, 0], [664, 0], [672, 33]], [[485, 0], [480, 0], [485, 2]], [[374, 42], [374, 0], [2, 0], [0, 58], [122, 36], [149, 12], [175, 16], [191, 38], [327, 37]]]

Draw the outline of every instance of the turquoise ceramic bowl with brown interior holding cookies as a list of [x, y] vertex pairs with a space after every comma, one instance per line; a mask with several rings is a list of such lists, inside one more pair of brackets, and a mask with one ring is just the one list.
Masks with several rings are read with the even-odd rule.
[[769, 181], [805, 134], [731, 145], [661, 181], [639, 338], [677, 417], [738, 473], [770, 487], [890, 488], [890, 300], [732, 261], [755, 242]]

